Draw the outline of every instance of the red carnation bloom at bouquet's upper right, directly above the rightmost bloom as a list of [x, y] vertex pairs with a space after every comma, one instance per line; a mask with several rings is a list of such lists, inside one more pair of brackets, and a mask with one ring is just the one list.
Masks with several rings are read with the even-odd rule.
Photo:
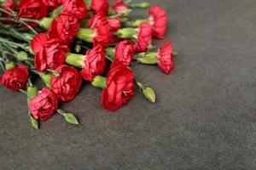
[[148, 9], [148, 13], [153, 24], [153, 36], [159, 39], [164, 38], [167, 27], [166, 11], [158, 5], [154, 5]]

